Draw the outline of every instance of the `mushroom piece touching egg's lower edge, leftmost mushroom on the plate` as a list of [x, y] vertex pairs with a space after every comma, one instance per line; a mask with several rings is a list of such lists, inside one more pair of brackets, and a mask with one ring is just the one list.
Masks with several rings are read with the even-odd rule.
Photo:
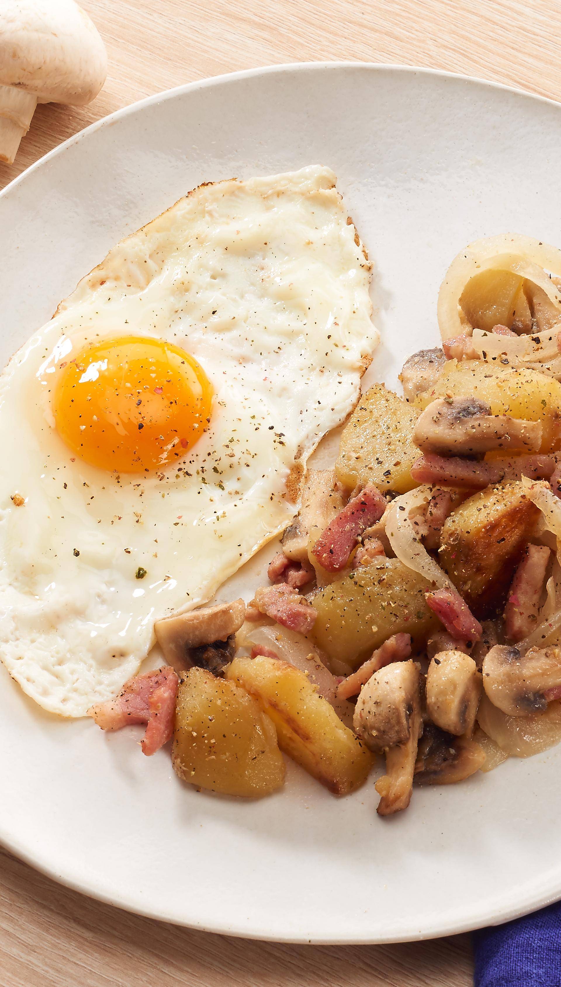
[[156, 621], [154, 631], [166, 660], [182, 671], [192, 665], [217, 674], [234, 656], [234, 635], [245, 618], [244, 600], [218, 603]]

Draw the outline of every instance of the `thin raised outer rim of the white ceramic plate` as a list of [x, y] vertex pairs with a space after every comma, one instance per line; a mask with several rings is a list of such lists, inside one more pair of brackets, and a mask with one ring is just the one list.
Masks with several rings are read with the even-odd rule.
[[[451, 72], [445, 69], [434, 69], [426, 66], [417, 66], [408, 63], [392, 63], [392, 62], [370, 62], [370, 61], [354, 61], [354, 60], [328, 60], [328, 61], [304, 61], [304, 62], [283, 62], [278, 65], [264, 65], [257, 66], [256, 68], [243, 69], [236, 72], [226, 72], [217, 76], [209, 76], [204, 79], [197, 79], [192, 82], [183, 83], [179, 86], [175, 86], [172, 89], [163, 90], [161, 92], [155, 93], [151, 96], [147, 96], [142, 100], [137, 100], [136, 102], [126, 106], [121, 107], [118, 110], [113, 111], [111, 114], [107, 114], [99, 120], [95, 120], [93, 123], [79, 130], [77, 133], [72, 134], [61, 144], [58, 144], [52, 150], [48, 151], [46, 154], [38, 158], [32, 165], [30, 165], [25, 171], [20, 175], [16, 176], [8, 185], [0, 190], [0, 201], [7, 197], [9, 194], [15, 192], [19, 186], [26, 181], [30, 176], [35, 174], [35, 172], [48, 166], [51, 161], [53, 161], [57, 156], [64, 154], [70, 147], [73, 147], [78, 142], [86, 139], [88, 135], [96, 132], [98, 129], [110, 126], [112, 123], [124, 118], [127, 115], [136, 114], [139, 111], [144, 110], [146, 107], [158, 105], [160, 103], [167, 102], [179, 97], [182, 97], [188, 93], [196, 92], [198, 90], [207, 89], [214, 86], [220, 86], [225, 83], [235, 82], [238, 80], [249, 79], [255, 76], [271, 75], [271, 74], [295, 74], [302, 73], [306, 74], [308, 72], [319, 72], [325, 70], [336, 71], [338, 69], [367, 69], [369, 72], [379, 73], [389, 71], [395, 74], [410, 74], [410, 75], [428, 75], [433, 77], [439, 77], [449, 80], [459, 80], [463, 82], [470, 83], [471, 85], [476, 85], [477, 87], [483, 87], [488, 89], [503, 90], [504, 92], [515, 94], [518, 97], [526, 98], [526, 100], [537, 101], [539, 103], [544, 103], [549, 106], [555, 107], [561, 112], [561, 100], [554, 100], [549, 97], [541, 96], [536, 93], [531, 93], [525, 89], [519, 88], [517, 86], [507, 85], [501, 82], [494, 82], [487, 79], [482, 79], [478, 76], [467, 75], [465, 73]], [[45, 863], [40, 857], [35, 857], [33, 851], [30, 851], [29, 847], [21, 844], [17, 838], [12, 835], [7, 835], [2, 828], [0, 828], [0, 846], [6, 849], [9, 853], [13, 854], [17, 859], [23, 861], [25, 864], [34, 868], [38, 873], [42, 873], [50, 879], [56, 881], [64, 887], [68, 887], [72, 891], [76, 891], [80, 894], [84, 894], [94, 900], [101, 901], [106, 905], [110, 905], [115, 908], [119, 908], [122, 911], [126, 911], [135, 915], [140, 915], [145, 918], [155, 919], [160, 922], [167, 922], [171, 925], [175, 925], [181, 928], [196, 929], [201, 932], [211, 933], [214, 935], [232, 936], [240, 939], [250, 939], [260, 942], [271, 942], [271, 943], [284, 943], [284, 944], [295, 944], [295, 945], [311, 945], [311, 946], [369, 946], [369, 945], [385, 945], [385, 944], [397, 944], [406, 942], [422, 942], [431, 939], [441, 939], [446, 936], [458, 935], [461, 933], [471, 932], [474, 929], [482, 928], [486, 925], [502, 925], [503, 923], [512, 921], [516, 918], [521, 918], [528, 913], [552, 904], [555, 901], [561, 899], [561, 882], [559, 883], [556, 890], [551, 887], [541, 886], [541, 890], [534, 890], [532, 893], [526, 895], [524, 903], [519, 903], [517, 906], [513, 906], [508, 910], [501, 912], [500, 916], [497, 917], [496, 909], [493, 908], [492, 904], [486, 909], [482, 909], [480, 917], [476, 920], [464, 920], [464, 921], [452, 921], [445, 925], [441, 925], [438, 931], [411, 931], [407, 935], [397, 934], [394, 936], [382, 935], [367, 935], [363, 937], [349, 938], [344, 937], [341, 939], [329, 937], [322, 939], [321, 937], [296, 937], [296, 936], [281, 936], [281, 935], [271, 935], [266, 931], [260, 930], [247, 930], [241, 926], [225, 927], [224, 925], [212, 925], [196, 921], [185, 921], [178, 918], [174, 914], [166, 914], [165, 912], [157, 912], [150, 907], [143, 907], [140, 901], [133, 901], [127, 897], [126, 893], [121, 894], [110, 894], [105, 893], [103, 889], [97, 888], [95, 884], [89, 883], [88, 881], [80, 881], [77, 878], [65, 875], [63, 873], [58, 873], [54, 867]]]

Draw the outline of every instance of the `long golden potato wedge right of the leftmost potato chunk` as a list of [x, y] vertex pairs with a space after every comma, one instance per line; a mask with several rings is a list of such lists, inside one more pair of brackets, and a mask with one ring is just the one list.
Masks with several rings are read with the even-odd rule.
[[373, 755], [342, 723], [308, 676], [278, 658], [235, 658], [228, 678], [255, 696], [282, 750], [337, 796], [365, 781]]

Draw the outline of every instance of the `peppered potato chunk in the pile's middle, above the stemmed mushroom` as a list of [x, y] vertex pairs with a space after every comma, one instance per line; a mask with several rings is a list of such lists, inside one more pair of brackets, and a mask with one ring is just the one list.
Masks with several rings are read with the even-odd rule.
[[311, 596], [312, 636], [327, 658], [356, 668], [392, 634], [424, 639], [438, 623], [425, 601], [429, 588], [422, 575], [381, 556]]

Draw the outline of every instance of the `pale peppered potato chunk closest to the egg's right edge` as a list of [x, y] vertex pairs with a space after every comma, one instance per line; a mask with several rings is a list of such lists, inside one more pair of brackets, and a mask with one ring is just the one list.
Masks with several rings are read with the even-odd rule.
[[347, 490], [375, 484], [380, 491], [406, 493], [415, 487], [411, 467], [420, 452], [412, 434], [419, 414], [384, 384], [361, 395], [341, 435], [337, 479]]

